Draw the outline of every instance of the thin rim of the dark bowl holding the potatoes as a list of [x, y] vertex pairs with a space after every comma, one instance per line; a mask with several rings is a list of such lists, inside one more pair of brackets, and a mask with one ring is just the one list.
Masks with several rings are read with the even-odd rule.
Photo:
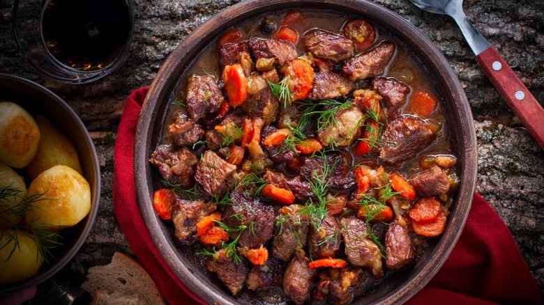
[[[63, 99], [61, 99], [61, 97], [59, 97], [59, 95], [56, 95], [56, 93], [53, 93], [48, 88], [45, 88], [44, 86], [41, 86], [36, 82], [30, 81], [29, 79], [24, 79], [23, 77], [0, 73], [0, 82], [3, 81], [17, 82], [31, 90], [37, 91], [43, 95], [47, 95], [48, 97], [50, 97], [51, 100], [54, 100], [57, 104], [59, 104], [63, 111], [66, 111], [66, 114], [68, 114], [70, 120], [73, 120], [75, 122], [78, 129], [82, 131], [87, 130], [80, 117], [77, 116], [77, 114], [70, 107], [70, 105], [68, 105]], [[91, 136], [89, 135], [89, 132], [82, 132], [82, 134], [84, 134], [84, 141], [86, 146], [89, 146], [89, 148], [91, 148], [89, 153], [91, 155], [93, 164], [93, 171], [91, 173], [86, 173], [86, 175], [94, 176], [95, 178], [94, 186], [91, 185], [91, 198], [93, 198], [93, 201], [91, 201], [91, 210], [86, 216], [89, 217], [86, 220], [87, 225], [83, 228], [80, 238], [75, 242], [75, 244], [73, 244], [73, 248], [70, 249], [70, 251], [64, 253], [61, 259], [56, 260], [52, 265], [48, 266], [44, 272], [38, 272], [36, 276], [33, 276], [23, 281], [0, 286], [0, 295], [7, 295], [8, 293], [24, 290], [43, 283], [43, 281], [49, 279], [51, 276], [59, 272], [70, 260], [72, 260], [75, 254], [80, 251], [82, 245], [86, 241], [86, 238], [89, 236], [89, 233], [91, 232], [94, 221], [98, 214], [98, 207], [100, 205], [100, 163], [98, 162], [96, 148], [91, 139]]]

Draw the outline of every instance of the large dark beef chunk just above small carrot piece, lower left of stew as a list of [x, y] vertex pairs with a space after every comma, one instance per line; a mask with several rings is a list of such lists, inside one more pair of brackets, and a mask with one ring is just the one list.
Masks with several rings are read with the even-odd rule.
[[239, 237], [240, 247], [256, 248], [271, 239], [274, 229], [274, 209], [271, 205], [264, 205], [252, 194], [236, 189], [230, 194], [232, 204], [223, 213], [222, 222], [229, 228], [244, 230], [230, 233], [234, 240]]

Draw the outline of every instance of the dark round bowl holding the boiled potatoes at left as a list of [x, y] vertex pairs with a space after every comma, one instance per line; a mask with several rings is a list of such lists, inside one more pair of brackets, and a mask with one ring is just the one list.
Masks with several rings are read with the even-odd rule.
[[31, 115], [42, 114], [63, 134], [77, 150], [84, 177], [91, 187], [91, 210], [79, 224], [61, 230], [61, 246], [52, 249], [50, 263], [43, 263], [38, 274], [24, 281], [0, 286], [0, 295], [24, 290], [42, 283], [64, 267], [80, 250], [91, 232], [100, 201], [100, 165], [93, 141], [80, 118], [61, 97], [27, 79], [0, 74], [0, 100], [10, 100], [27, 109]]

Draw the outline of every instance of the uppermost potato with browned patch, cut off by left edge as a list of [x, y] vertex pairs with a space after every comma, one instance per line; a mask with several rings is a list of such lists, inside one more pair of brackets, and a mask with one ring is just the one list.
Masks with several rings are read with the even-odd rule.
[[40, 130], [32, 116], [13, 102], [0, 102], [0, 161], [22, 169], [38, 150]]

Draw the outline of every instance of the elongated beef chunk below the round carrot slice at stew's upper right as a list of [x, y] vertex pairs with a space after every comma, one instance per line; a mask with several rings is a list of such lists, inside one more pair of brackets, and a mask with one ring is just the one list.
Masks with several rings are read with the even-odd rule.
[[395, 44], [391, 41], [384, 41], [374, 49], [348, 59], [342, 65], [342, 71], [350, 81], [377, 77], [384, 73], [384, 68], [393, 54], [395, 54]]

